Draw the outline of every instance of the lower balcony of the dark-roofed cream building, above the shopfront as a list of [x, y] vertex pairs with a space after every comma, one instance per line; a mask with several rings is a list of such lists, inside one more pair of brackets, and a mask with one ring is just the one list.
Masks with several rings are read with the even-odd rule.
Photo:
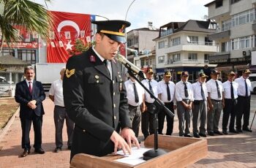
[[[168, 60], [165, 62], [165, 68], [166, 67], [178, 67], [178, 66], [205, 66], [208, 64], [208, 60], [203, 60], [203, 59], [183, 59], [183, 60]], [[211, 65], [214, 66], [214, 65]]]

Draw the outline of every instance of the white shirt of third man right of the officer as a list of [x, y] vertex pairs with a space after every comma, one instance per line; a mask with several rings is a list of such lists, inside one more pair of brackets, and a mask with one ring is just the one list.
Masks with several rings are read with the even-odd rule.
[[176, 105], [176, 99], [175, 99], [175, 84], [172, 81], [168, 82], [168, 87], [170, 89], [170, 101], [168, 101], [167, 98], [167, 84], [165, 83], [165, 80], [161, 80], [157, 85], [157, 91], [159, 94], [161, 94], [161, 100], [164, 103], [173, 102], [174, 105]]

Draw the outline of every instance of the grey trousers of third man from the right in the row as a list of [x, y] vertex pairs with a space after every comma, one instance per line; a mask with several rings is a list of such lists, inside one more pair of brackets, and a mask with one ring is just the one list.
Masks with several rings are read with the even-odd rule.
[[207, 112], [207, 132], [219, 131], [219, 118], [222, 112], [222, 101], [211, 99], [214, 108]]

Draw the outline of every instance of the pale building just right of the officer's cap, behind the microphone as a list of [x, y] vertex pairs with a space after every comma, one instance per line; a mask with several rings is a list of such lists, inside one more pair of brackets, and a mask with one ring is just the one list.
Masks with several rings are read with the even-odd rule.
[[140, 69], [151, 67], [155, 71], [155, 45], [153, 39], [157, 38], [159, 28], [155, 28], [152, 22], [148, 22], [148, 27], [137, 28], [127, 33], [127, 47], [138, 51], [138, 56], [128, 52], [127, 58], [134, 62]]

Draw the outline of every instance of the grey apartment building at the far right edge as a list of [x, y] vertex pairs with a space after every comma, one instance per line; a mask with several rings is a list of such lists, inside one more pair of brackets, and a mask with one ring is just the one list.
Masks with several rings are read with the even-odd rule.
[[206, 4], [208, 18], [217, 23], [216, 31], [209, 35], [217, 44], [217, 53], [209, 57], [209, 63], [218, 64], [224, 76], [233, 70], [250, 68], [255, 50], [256, 0], [216, 0]]

